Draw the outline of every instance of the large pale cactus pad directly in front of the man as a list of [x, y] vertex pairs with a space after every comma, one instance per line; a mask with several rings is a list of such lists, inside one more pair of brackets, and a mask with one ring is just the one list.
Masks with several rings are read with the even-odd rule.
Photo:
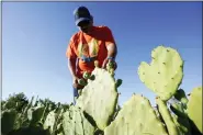
[[103, 131], [115, 111], [119, 93], [114, 78], [105, 69], [95, 67], [92, 75], [95, 79], [88, 80], [77, 100], [77, 106], [89, 114]]

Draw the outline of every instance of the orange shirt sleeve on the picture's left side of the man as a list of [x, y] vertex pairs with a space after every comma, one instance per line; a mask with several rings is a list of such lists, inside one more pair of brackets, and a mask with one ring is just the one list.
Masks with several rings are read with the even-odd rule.
[[67, 50], [66, 50], [66, 57], [67, 58], [77, 58], [77, 55], [75, 53], [75, 41], [74, 36], [70, 38]]

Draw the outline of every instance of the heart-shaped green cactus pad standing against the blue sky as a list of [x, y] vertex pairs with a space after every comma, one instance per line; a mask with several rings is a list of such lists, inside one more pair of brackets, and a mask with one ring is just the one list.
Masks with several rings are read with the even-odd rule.
[[183, 77], [183, 60], [170, 47], [158, 46], [151, 52], [150, 65], [142, 61], [138, 67], [139, 79], [161, 100], [169, 100], [177, 91]]

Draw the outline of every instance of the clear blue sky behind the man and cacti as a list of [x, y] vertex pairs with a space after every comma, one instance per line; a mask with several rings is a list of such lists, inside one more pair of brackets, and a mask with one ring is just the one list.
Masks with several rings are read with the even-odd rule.
[[[160, 44], [179, 50], [184, 63], [187, 93], [202, 86], [201, 2], [3, 2], [2, 98], [24, 92], [56, 102], [72, 101], [71, 76], [65, 56], [78, 31], [72, 12], [86, 5], [94, 25], [109, 26], [117, 43], [116, 78], [120, 104], [142, 93], [154, 104], [155, 94], [139, 80], [140, 61]], [[104, 94], [105, 95], [105, 94]]]

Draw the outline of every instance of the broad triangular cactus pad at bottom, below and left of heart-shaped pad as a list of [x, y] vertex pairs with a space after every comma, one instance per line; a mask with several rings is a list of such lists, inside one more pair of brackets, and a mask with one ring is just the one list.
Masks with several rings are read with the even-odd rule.
[[104, 135], [168, 135], [148, 99], [133, 94]]

